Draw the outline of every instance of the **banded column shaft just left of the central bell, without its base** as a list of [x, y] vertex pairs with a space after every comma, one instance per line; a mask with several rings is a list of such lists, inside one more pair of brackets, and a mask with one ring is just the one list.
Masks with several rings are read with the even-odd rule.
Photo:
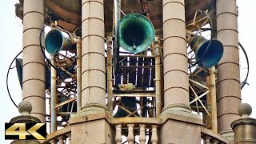
[[106, 109], [103, 0], [82, 0], [82, 109]]

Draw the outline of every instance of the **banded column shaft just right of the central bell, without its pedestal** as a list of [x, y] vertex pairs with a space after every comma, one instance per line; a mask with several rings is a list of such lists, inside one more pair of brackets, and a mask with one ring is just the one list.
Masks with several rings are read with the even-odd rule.
[[164, 109], [190, 112], [184, 0], [163, 0]]

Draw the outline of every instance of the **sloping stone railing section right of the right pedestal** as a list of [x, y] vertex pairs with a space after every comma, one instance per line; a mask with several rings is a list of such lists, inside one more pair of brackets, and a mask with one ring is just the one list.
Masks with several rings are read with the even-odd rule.
[[205, 127], [201, 128], [201, 138], [205, 144], [230, 144], [230, 141], [222, 137], [221, 134], [214, 133]]

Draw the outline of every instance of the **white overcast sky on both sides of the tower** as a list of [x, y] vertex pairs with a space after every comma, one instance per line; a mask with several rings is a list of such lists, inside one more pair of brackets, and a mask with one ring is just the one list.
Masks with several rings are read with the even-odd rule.
[[[18, 110], [10, 101], [10, 98], [6, 90], [6, 72], [10, 65], [10, 62], [22, 50], [22, 28], [21, 23], [18, 18], [15, 17], [14, 3], [16, 0], [1, 0], [0, 1], [0, 50], [2, 50], [2, 56], [0, 57], [1, 67], [0, 75], [2, 79], [0, 81], [0, 97], [1, 105], [0, 110], [2, 112], [2, 117], [0, 119], [0, 143], [10, 143], [4, 141], [4, 122], [9, 122], [11, 118], [18, 116]], [[256, 29], [255, 23], [256, 18], [256, 1], [255, 0], [238, 0], [238, 30], [239, 30], [239, 42], [245, 47], [246, 52], [250, 59], [250, 76], [248, 79], [249, 86], [245, 86], [242, 90], [242, 102], [250, 103], [253, 106], [253, 114], [251, 117], [256, 118], [256, 94], [254, 90], [256, 89], [256, 66], [255, 62], [255, 41], [256, 41]], [[18, 21], [18, 22], [17, 22]], [[245, 58], [241, 54], [241, 67], [242, 67], [242, 79], [246, 74], [246, 62]], [[18, 83], [18, 77], [16, 70], [10, 70], [9, 79], [10, 93], [14, 98], [16, 104], [22, 100], [22, 90]]]

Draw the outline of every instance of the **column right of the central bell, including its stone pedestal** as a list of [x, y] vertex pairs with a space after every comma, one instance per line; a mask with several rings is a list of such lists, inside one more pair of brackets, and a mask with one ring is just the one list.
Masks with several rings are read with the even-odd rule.
[[163, 0], [162, 5], [164, 108], [159, 143], [200, 143], [202, 120], [190, 110], [185, 1]]

